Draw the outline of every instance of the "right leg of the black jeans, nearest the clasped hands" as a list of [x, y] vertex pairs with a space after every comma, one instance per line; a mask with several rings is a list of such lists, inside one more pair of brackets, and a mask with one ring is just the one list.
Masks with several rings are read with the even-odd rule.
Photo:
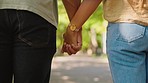
[[15, 83], [49, 83], [56, 51], [56, 29], [40, 16], [17, 12], [20, 24], [14, 45]]

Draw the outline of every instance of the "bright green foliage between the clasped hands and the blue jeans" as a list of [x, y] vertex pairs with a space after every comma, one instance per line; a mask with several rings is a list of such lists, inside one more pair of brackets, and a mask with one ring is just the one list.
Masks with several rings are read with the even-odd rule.
[[86, 21], [83, 26], [83, 49], [87, 49], [90, 44], [90, 28], [94, 28], [97, 35], [99, 48], [102, 48], [102, 33], [105, 32], [105, 20], [103, 19], [102, 4], [96, 9], [93, 15]]

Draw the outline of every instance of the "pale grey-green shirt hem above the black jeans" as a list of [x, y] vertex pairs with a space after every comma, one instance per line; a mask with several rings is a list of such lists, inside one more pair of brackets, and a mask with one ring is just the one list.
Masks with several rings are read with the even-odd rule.
[[57, 26], [57, 0], [0, 0], [0, 9], [18, 9], [34, 12]]

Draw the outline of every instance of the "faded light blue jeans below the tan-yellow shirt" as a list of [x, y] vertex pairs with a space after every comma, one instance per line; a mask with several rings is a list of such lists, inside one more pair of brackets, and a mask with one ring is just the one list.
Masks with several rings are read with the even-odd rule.
[[113, 83], [148, 83], [148, 26], [109, 23], [107, 54]]

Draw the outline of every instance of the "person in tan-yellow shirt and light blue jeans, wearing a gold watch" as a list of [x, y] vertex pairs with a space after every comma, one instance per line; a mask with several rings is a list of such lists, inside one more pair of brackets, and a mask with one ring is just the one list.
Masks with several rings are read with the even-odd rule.
[[[81, 5], [70, 22], [75, 26], [69, 25], [64, 34], [63, 50], [68, 54], [80, 50], [73, 47], [78, 45], [78, 37], [77, 41], [73, 40], [68, 30], [77, 31], [93, 12], [86, 11], [85, 7], [94, 10], [97, 4], [93, 4], [95, 7]], [[113, 83], [148, 83], [148, 0], [103, 0], [103, 7], [109, 22], [107, 54]]]

